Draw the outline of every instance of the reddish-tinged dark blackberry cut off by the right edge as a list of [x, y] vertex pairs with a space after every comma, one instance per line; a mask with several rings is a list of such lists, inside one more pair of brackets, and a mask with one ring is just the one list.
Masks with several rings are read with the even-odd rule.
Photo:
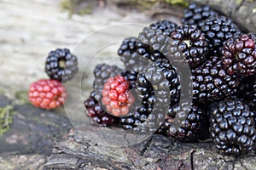
[[228, 39], [222, 54], [224, 67], [230, 75], [247, 77], [255, 74], [256, 38], [253, 35], [242, 34]]

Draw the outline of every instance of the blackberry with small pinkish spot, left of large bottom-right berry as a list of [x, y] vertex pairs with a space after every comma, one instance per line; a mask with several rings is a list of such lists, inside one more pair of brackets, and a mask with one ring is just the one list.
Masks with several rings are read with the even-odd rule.
[[[188, 114], [186, 119], [180, 122], [180, 127], [172, 126], [175, 119], [183, 117]], [[171, 112], [168, 114], [164, 127], [166, 133], [173, 138], [182, 142], [198, 142], [202, 139], [209, 137], [207, 128], [209, 128], [209, 117], [207, 113], [198, 106], [189, 102], [183, 102], [181, 105], [172, 107]]]

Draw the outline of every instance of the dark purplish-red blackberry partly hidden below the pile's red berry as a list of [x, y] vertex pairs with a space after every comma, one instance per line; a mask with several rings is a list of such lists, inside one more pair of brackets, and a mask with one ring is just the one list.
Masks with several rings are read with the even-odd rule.
[[102, 110], [101, 105], [95, 97], [96, 93], [93, 91], [91, 92], [90, 97], [84, 101], [88, 116], [102, 126], [112, 125], [115, 122], [118, 122], [118, 117], [111, 116], [106, 111]]

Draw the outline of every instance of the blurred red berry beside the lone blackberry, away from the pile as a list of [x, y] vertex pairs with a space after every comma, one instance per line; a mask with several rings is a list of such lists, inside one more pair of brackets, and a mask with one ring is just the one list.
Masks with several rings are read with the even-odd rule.
[[61, 82], [42, 79], [30, 85], [28, 99], [32, 105], [51, 110], [63, 105], [67, 91]]

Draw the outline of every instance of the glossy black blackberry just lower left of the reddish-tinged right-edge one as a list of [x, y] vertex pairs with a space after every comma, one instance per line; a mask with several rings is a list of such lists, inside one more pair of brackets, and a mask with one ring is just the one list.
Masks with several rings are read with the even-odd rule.
[[236, 94], [238, 78], [227, 74], [221, 59], [217, 56], [212, 56], [206, 63], [191, 72], [195, 103], [207, 104]]

